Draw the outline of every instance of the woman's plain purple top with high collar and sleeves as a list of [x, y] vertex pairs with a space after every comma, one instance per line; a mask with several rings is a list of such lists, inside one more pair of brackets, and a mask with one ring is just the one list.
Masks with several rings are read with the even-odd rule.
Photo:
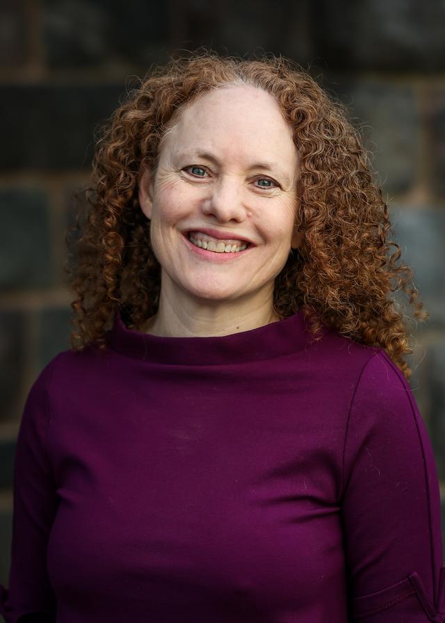
[[[302, 313], [220, 337], [116, 316], [17, 440], [8, 623], [445, 621], [439, 485], [384, 351]], [[28, 620], [28, 619], [27, 619]]]

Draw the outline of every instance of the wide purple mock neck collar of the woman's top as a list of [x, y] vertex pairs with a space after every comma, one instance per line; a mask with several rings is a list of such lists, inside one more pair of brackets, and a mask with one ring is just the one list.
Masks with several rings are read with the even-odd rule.
[[160, 337], [129, 329], [119, 310], [106, 343], [122, 355], [170, 365], [224, 365], [291, 355], [310, 339], [301, 311], [240, 333], [215, 337]]

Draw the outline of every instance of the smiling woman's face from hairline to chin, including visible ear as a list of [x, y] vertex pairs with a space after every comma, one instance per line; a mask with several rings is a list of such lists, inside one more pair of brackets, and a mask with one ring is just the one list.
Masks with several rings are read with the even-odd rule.
[[264, 90], [213, 90], [184, 108], [139, 192], [170, 301], [271, 305], [298, 245], [297, 176], [291, 127]]

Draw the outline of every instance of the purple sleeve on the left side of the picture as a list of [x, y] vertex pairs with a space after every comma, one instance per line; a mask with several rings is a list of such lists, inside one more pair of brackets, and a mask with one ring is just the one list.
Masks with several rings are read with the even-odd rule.
[[56, 600], [47, 574], [47, 544], [58, 498], [45, 453], [47, 385], [53, 365], [54, 359], [31, 387], [17, 437], [9, 589], [0, 586], [0, 613], [7, 623], [56, 620]]

